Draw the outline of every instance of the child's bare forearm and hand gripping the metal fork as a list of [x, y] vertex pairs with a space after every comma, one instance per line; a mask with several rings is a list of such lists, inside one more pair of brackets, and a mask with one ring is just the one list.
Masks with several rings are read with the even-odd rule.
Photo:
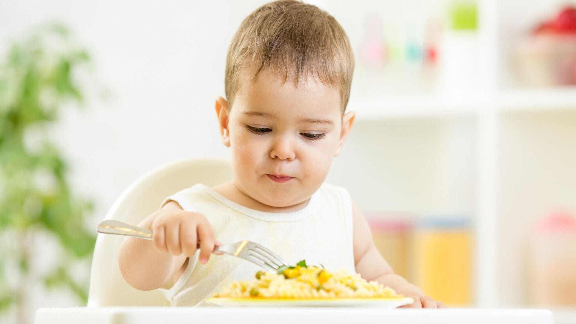
[[214, 233], [206, 218], [186, 212], [174, 201], [146, 217], [138, 226], [152, 230], [153, 240], [127, 237], [120, 246], [118, 263], [124, 280], [140, 290], [163, 287], [194, 255], [200, 241], [200, 262], [214, 250]]

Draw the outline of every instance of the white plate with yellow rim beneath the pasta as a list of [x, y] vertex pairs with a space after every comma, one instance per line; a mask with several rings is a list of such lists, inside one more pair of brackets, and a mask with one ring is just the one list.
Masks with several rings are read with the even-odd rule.
[[253, 307], [377, 307], [392, 309], [414, 303], [408, 297], [398, 298], [334, 298], [334, 299], [283, 299], [283, 298], [220, 298], [206, 299], [206, 303], [219, 306]]

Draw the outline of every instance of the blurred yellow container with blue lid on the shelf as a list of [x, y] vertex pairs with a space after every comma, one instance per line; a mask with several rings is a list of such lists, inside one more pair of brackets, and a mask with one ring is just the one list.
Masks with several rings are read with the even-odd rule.
[[468, 220], [423, 221], [414, 232], [412, 278], [427, 296], [467, 306], [472, 296], [472, 235]]

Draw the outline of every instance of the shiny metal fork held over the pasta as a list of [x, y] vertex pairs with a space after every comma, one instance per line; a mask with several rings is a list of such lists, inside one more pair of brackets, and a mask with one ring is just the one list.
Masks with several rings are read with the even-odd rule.
[[[135, 238], [152, 240], [152, 231], [118, 220], [105, 220], [98, 224], [98, 233], [134, 236]], [[200, 244], [197, 246], [200, 247]], [[266, 271], [276, 272], [281, 266], [288, 264], [274, 252], [262, 245], [250, 241], [240, 241], [222, 246], [215, 246], [213, 254], [228, 254], [245, 259]]]

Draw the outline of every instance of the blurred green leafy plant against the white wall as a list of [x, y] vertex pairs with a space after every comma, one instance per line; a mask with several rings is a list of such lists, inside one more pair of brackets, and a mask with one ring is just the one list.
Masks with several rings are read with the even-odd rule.
[[[75, 197], [66, 161], [48, 135], [63, 107], [83, 106], [76, 72], [89, 55], [60, 24], [43, 25], [6, 54], [0, 61], [0, 313], [16, 308], [24, 322], [29, 282], [87, 299], [88, 285], [74, 280], [70, 265], [92, 254], [96, 237], [86, 228], [92, 204]], [[39, 235], [62, 246], [48, 273], [31, 268], [44, 244]]]

